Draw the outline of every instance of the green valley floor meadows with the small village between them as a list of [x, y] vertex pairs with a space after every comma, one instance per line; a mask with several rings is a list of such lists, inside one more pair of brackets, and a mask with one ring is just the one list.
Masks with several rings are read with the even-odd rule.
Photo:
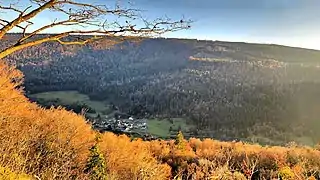
[[[85, 116], [88, 118], [88, 121], [94, 122], [93, 124], [96, 125], [97, 129], [101, 130], [108, 130], [108, 126], [113, 126], [114, 123], [118, 123], [118, 121], [122, 121], [122, 124], [126, 124], [126, 126], [130, 126], [128, 125], [130, 122], [132, 122], [133, 126], [139, 126], [134, 124], [139, 124], [141, 121], [130, 115], [127, 115], [126, 118], [115, 119], [115, 113], [118, 111], [112, 110], [108, 102], [91, 100], [88, 95], [79, 93], [78, 91], [50, 91], [30, 94], [29, 97], [38, 101], [40, 105], [41, 103], [45, 104], [48, 102], [55, 102], [55, 105], [61, 106], [75, 103], [86, 105], [94, 110], [94, 113], [87, 112]], [[132, 120], [129, 118], [132, 118]], [[134, 128], [130, 133], [150, 134], [158, 138], [166, 139], [175, 137], [179, 130], [184, 132], [186, 136], [190, 136], [188, 135], [190, 132], [189, 129], [192, 128], [192, 125], [187, 124], [184, 118], [148, 118], [145, 119], [145, 122], [147, 124], [146, 128], [139, 126], [139, 128]], [[126, 128], [127, 127], [119, 127], [117, 130], [128, 132], [125, 131]]]

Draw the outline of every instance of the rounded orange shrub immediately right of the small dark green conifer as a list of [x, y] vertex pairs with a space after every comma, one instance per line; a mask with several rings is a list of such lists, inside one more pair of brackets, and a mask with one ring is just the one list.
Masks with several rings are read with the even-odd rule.
[[158, 163], [141, 140], [112, 133], [105, 133], [100, 144], [105, 154], [109, 173], [115, 173], [120, 179], [163, 180], [170, 177], [170, 167]]

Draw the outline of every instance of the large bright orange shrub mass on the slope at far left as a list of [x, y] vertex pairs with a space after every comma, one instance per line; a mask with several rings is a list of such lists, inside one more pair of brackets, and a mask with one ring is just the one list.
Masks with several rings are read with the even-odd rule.
[[22, 74], [0, 62], [0, 165], [42, 179], [82, 174], [94, 132], [82, 116], [32, 104], [20, 86]]

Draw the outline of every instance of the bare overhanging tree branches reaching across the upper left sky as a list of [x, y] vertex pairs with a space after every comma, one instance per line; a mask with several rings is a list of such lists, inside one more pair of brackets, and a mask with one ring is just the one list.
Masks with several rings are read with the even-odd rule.
[[[0, 51], [0, 59], [15, 51], [49, 41], [82, 45], [110, 36], [149, 37], [190, 28], [189, 20], [174, 21], [169, 18], [147, 20], [141, 15], [140, 10], [120, 6], [119, 0], [114, 7], [77, 0], [28, 0], [27, 2], [25, 4], [19, 1], [10, 3], [0, 1], [0, 40], [14, 29], [20, 29], [21, 32], [21, 36], [13, 45]], [[21, 8], [20, 4], [24, 7]], [[44, 11], [51, 11], [57, 18], [51, 22], [42, 22], [38, 28], [32, 28], [39, 23], [34, 22], [34, 19], [41, 16]], [[6, 18], [7, 14], [15, 14], [16, 17], [9, 20]], [[59, 32], [37, 36], [57, 27]]]

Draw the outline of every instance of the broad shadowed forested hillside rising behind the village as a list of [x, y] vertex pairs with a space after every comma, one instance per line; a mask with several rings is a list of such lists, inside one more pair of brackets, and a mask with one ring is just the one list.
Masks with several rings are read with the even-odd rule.
[[134, 116], [185, 118], [199, 137], [267, 144], [320, 139], [319, 51], [182, 39], [111, 49], [104, 43], [45, 43], [7, 61], [24, 73], [27, 95], [77, 90]]

